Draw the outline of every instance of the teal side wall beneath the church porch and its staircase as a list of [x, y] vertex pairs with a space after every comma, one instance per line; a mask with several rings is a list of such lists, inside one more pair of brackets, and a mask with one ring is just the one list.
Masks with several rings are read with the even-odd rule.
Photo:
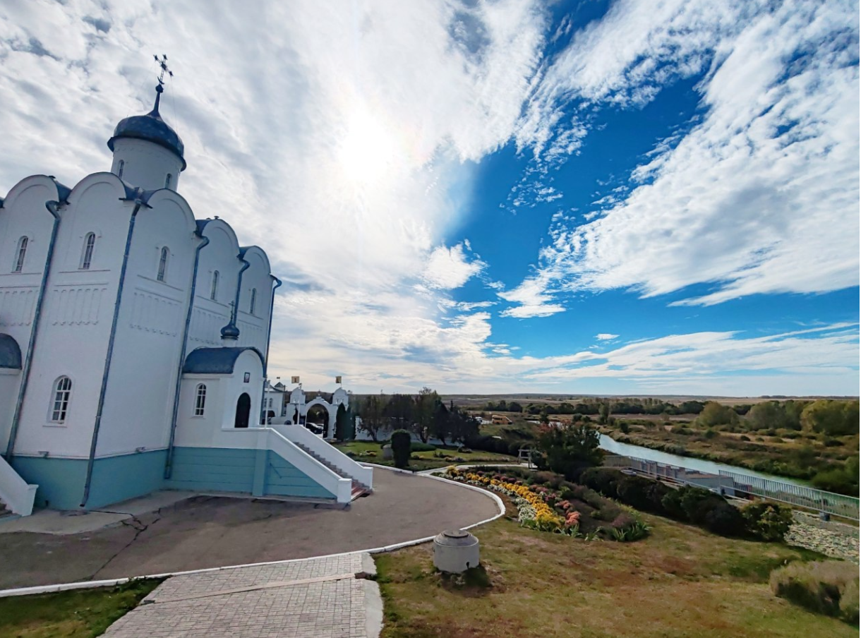
[[164, 487], [335, 499], [335, 494], [267, 449], [175, 448], [173, 471]]

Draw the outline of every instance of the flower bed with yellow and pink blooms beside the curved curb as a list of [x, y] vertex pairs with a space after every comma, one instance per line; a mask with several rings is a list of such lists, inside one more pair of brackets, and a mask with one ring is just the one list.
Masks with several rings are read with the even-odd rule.
[[[579, 492], [569, 488], [560, 491], [548, 486], [526, 485], [521, 479], [493, 471], [465, 471], [455, 467], [446, 468], [443, 476], [505, 494], [517, 507], [517, 521], [532, 530], [582, 536], [586, 540], [607, 538], [614, 541], [636, 541], [649, 532], [634, 510], [581, 486], [571, 486], [579, 487]], [[570, 498], [563, 499], [563, 493]], [[578, 493], [591, 502], [574, 498]], [[608, 521], [609, 524], [602, 525], [598, 521]]]

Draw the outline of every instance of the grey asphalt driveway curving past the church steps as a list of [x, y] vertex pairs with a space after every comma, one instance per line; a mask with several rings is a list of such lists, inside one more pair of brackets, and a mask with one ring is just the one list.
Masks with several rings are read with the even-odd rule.
[[82, 534], [0, 534], [0, 589], [357, 551], [498, 512], [479, 492], [412, 474], [375, 468], [374, 486], [347, 509], [196, 496]]

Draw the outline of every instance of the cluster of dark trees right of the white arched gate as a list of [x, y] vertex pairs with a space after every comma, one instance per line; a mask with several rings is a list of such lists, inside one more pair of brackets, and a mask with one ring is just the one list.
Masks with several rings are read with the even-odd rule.
[[356, 401], [357, 428], [377, 440], [381, 431], [407, 430], [427, 443], [463, 443], [479, 435], [479, 421], [454, 402], [443, 403], [436, 390], [423, 387], [418, 394], [370, 394]]

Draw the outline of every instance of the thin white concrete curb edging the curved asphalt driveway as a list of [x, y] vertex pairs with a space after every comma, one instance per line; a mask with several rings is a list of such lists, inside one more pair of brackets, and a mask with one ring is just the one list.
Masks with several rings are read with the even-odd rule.
[[[484, 525], [485, 523], [490, 523], [491, 521], [495, 521], [497, 518], [501, 517], [505, 514], [505, 504], [502, 502], [502, 499], [499, 498], [493, 492], [489, 492], [487, 490], [481, 489], [477, 486], [467, 485], [465, 483], [460, 483], [455, 480], [443, 479], [440, 476], [430, 476], [428, 474], [415, 474], [413, 472], [409, 472], [407, 470], [402, 470], [399, 468], [388, 468], [385, 465], [375, 465], [373, 463], [367, 463], [367, 465], [373, 465], [375, 468], [387, 469], [392, 472], [402, 472], [406, 474], [412, 474], [413, 476], [418, 476], [425, 479], [431, 480], [442, 480], [451, 485], [456, 485], [460, 487], [465, 487], [468, 490], [473, 490], [474, 492], [480, 492], [484, 494], [487, 498], [492, 499], [497, 507], [499, 507], [499, 513], [496, 516], [486, 518], [483, 521], [479, 521], [478, 523], [473, 523], [471, 525], [467, 525], [462, 528], [463, 530], [471, 530], [474, 527], [478, 527], [479, 525]], [[442, 530], [440, 530], [442, 531]], [[130, 580], [140, 580], [140, 579], [164, 579], [170, 578], [172, 576], [188, 576], [195, 573], [210, 573], [210, 572], [223, 572], [227, 569], [239, 569], [241, 567], [265, 567], [267, 565], [285, 565], [287, 563], [294, 563], [300, 561], [314, 561], [319, 558], [334, 558], [336, 556], [347, 556], [350, 554], [385, 554], [386, 552], [393, 552], [395, 549], [411, 547], [412, 545], [420, 545], [423, 542], [432, 541], [436, 536], [425, 536], [424, 538], [417, 538], [412, 541], [404, 541], [404, 542], [396, 542], [393, 545], [386, 545], [384, 547], [372, 548], [372, 549], [355, 549], [351, 552], [339, 552], [338, 554], [321, 554], [319, 556], [308, 556], [307, 558], [291, 558], [286, 559], [284, 561], [268, 561], [262, 563], [247, 563], [245, 565], [228, 565], [225, 567], [208, 567], [206, 569], [190, 569], [186, 572], [168, 572], [168, 573], [153, 573], [148, 574], [146, 576], [131, 576], [125, 577], [121, 579], [108, 579], [108, 580], [84, 580], [82, 582], [77, 583], [59, 583], [58, 585], [35, 585], [33, 587], [17, 587], [15, 589], [3, 589], [0, 590], [0, 598], [8, 598], [10, 596], [29, 596], [31, 594], [44, 594], [44, 593], [53, 593], [53, 592], [66, 592], [72, 589], [88, 589], [91, 587], [110, 587], [113, 585], [122, 585], [123, 583], [127, 583]]]

